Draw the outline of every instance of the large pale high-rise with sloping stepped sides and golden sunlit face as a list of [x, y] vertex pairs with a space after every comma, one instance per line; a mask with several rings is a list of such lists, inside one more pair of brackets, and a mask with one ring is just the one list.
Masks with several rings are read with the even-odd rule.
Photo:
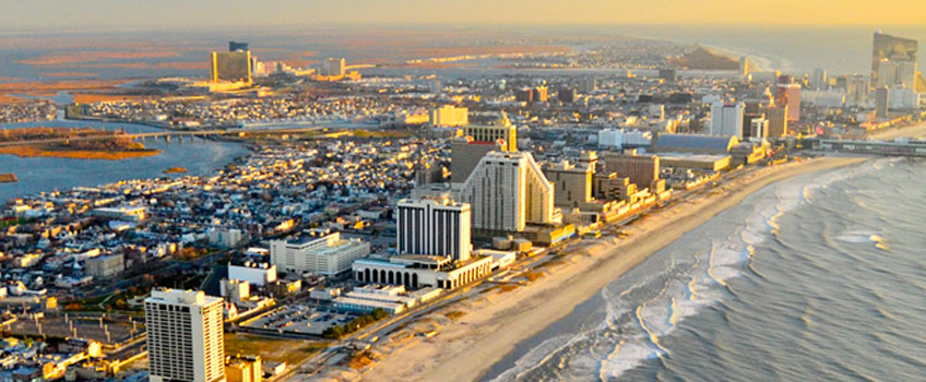
[[460, 190], [470, 203], [473, 228], [522, 231], [527, 223], [555, 224], [554, 188], [530, 153], [491, 152]]

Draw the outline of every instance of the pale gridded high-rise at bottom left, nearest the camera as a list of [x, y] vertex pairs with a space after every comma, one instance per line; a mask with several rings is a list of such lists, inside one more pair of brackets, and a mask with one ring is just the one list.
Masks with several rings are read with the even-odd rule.
[[225, 380], [223, 306], [202, 291], [151, 291], [144, 310], [152, 382]]

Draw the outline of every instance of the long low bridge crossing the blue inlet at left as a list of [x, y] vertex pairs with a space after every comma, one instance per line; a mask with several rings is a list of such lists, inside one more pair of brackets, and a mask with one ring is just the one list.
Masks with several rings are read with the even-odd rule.
[[27, 140], [27, 141], [10, 141], [10, 142], [0, 142], [0, 147], [12, 147], [12, 146], [24, 146], [24, 145], [35, 145], [35, 144], [49, 144], [49, 143], [64, 143], [64, 142], [75, 142], [75, 141], [106, 141], [112, 139], [130, 139], [133, 141], [136, 140], [149, 140], [149, 139], [163, 139], [165, 141], [170, 141], [171, 138], [177, 138], [181, 142], [185, 138], [194, 139], [210, 139], [219, 135], [240, 135], [240, 134], [254, 134], [254, 133], [280, 133], [280, 134], [293, 134], [293, 133], [302, 133], [309, 131], [318, 131], [324, 129], [336, 129], [335, 126], [311, 126], [311, 127], [298, 127], [298, 128], [281, 128], [281, 127], [271, 127], [271, 126], [262, 126], [254, 128], [244, 128], [244, 129], [210, 129], [210, 130], [165, 130], [157, 132], [142, 132], [142, 133], [127, 133], [123, 131], [112, 131], [111, 134], [97, 134], [97, 135], [87, 135], [87, 136], [64, 136], [64, 138], [50, 138], [43, 140]]

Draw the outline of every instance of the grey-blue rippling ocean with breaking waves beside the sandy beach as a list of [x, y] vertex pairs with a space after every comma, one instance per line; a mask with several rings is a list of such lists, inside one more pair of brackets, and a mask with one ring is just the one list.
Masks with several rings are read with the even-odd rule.
[[917, 381], [926, 163], [772, 184], [494, 365], [487, 381]]

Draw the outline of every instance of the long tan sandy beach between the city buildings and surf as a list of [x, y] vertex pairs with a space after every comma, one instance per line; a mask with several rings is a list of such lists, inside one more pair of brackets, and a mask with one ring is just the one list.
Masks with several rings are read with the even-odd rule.
[[625, 227], [630, 234], [627, 239], [606, 237], [590, 241], [590, 246], [563, 256], [562, 264], [544, 268], [544, 276], [536, 285], [486, 294], [446, 308], [465, 312], [456, 321], [442, 320], [440, 311], [430, 314], [428, 324], [439, 326], [438, 335], [427, 339], [416, 337], [391, 351], [378, 348], [383, 353], [382, 359], [363, 371], [363, 379], [480, 380], [495, 363], [514, 350], [517, 344], [570, 314], [578, 305], [653, 253], [738, 205], [756, 191], [795, 176], [865, 160], [867, 158], [822, 157], [744, 174], [709, 191], [708, 195], [678, 203]]

